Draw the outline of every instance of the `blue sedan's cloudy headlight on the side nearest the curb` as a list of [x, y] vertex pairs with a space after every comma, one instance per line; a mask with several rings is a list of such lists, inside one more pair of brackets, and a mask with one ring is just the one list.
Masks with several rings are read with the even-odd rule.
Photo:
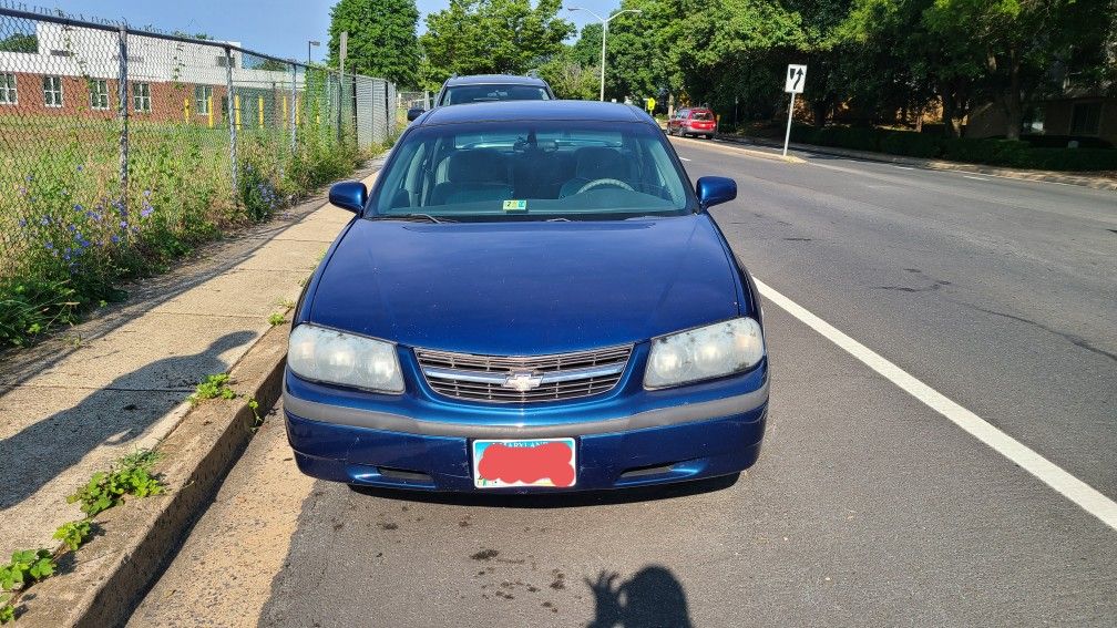
[[376, 392], [403, 392], [395, 345], [303, 324], [290, 332], [287, 365], [300, 378]]

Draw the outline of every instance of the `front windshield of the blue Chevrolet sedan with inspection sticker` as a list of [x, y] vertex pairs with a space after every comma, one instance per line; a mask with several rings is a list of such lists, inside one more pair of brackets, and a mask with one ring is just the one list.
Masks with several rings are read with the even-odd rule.
[[648, 124], [430, 125], [395, 146], [372, 207], [380, 218], [452, 220], [670, 216], [697, 204], [686, 181]]

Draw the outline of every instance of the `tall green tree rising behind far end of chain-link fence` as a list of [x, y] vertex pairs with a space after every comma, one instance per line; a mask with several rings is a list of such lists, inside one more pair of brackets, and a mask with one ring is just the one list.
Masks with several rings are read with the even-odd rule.
[[337, 67], [349, 32], [345, 72], [419, 85], [420, 48], [414, 0], [341, 0], [330, 11], [330, 59]]

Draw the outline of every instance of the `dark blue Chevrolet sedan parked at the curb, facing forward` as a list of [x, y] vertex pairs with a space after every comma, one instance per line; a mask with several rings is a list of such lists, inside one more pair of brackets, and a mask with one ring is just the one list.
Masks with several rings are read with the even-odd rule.
[[423, 114], [296, 310], [284, 411], [299, 469], [462, 492], [739, 473], [761, 449], [760, 298], [655, 121], [627, 105]]

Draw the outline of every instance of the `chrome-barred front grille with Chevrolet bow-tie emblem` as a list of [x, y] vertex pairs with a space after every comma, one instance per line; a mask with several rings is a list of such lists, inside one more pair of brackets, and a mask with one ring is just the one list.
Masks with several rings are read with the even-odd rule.
[[503, 356], [416, 349], [439, 394], [491, 403], [562, 401], [600, 394], [620, 381], [632, 345], [553, 355]]

